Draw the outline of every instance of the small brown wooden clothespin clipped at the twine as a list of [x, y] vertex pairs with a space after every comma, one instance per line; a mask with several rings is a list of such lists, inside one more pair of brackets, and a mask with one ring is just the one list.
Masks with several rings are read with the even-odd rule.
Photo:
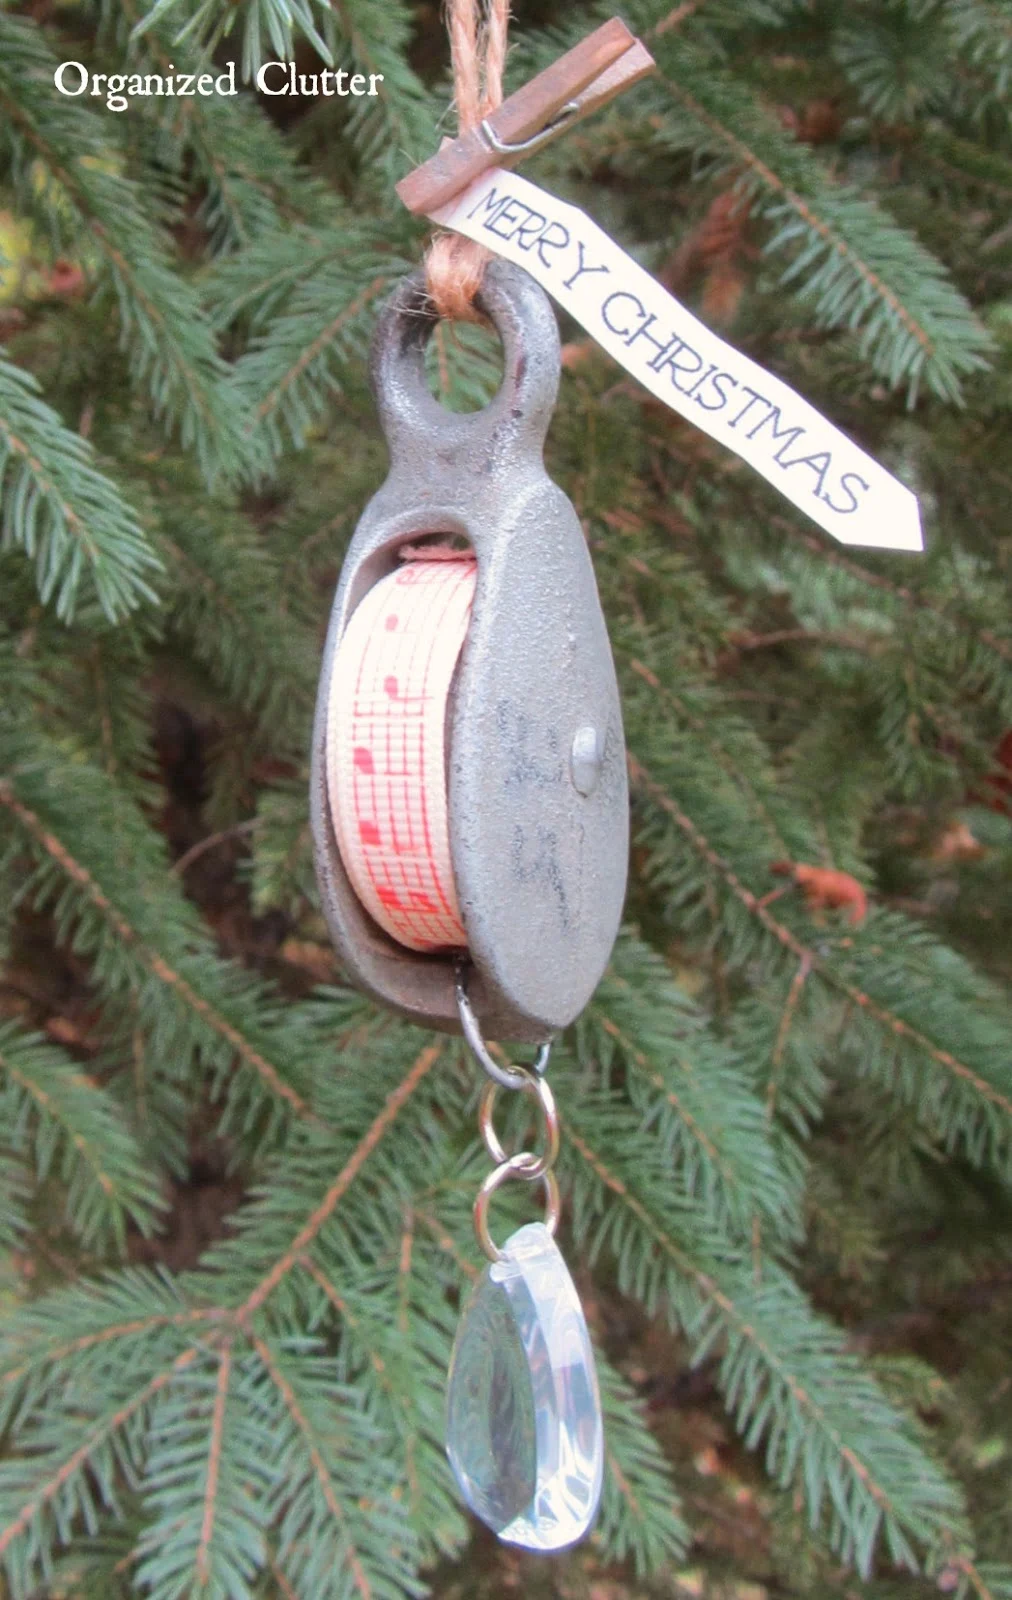
[[639, 83], [655, 66], [647, 46], [615, 16], [538, 72], [477, 128], [448, 139], [400, 179], [397, 194], [408, 211], [429, 216], [490, 166], [516, 166]]

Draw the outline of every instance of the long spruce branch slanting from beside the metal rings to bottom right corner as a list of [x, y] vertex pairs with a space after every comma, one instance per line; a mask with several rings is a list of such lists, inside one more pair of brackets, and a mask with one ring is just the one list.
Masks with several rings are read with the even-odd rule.
[[[589, 1109], [581, 1110], [578, 1123]], [[613, 1106], [607, 1117], [613, 1126]], [[765, 1437], [767, 1469], [781, 1486], [799, 1486], [813, 1528], [828, 1504], [829, 1542], [844, 1558], [868, 1574], [877, 1538], [884, 1536], [892, 1560], [916, 1570], [911, 1536], [930, 1546], [938, 1531], [954, 1526], [962, 1517], [959, 1496], [874, 1381], [847, 1355], [836, 1330], [809, 1310], [786, 1274], [770, 1262], [756, 1280], [751, 1267], [713, 1235], [703, 1246], [705, 1264], [698, 1243], [693, 1251], [685, 1248], [676, 1214], [657, 1197], [636, 1130], [629, 1128], [626, 1139], [615, 1136], [618, 1130], [608, 1133], [612, 1158], [605, 1160], [572, 1122], [568, 1142], [612, 1195], [610, 1211], [624, 1213], [634, 1224], [629, 1232], [605, 1216], [600, 1227], [600, 1238], [610, 1235], [618, 1246], [623, 1288], [649, 1304], [665, 1298], [695, 1344], [695, 1360], [724, 1339], [721, 1381], [746, 1443], [754, 1448]], [[594, 1211], [596, 1202], [578, 1202], [581, 1230]], [[682, 1211], [681, 1222], [706, 1237], [701, 1214]], [[674, 1282], [657, 1264], [660, 1258], [674, 1267]], [[649, 1280], [655, 1286], [647, 1286]]]

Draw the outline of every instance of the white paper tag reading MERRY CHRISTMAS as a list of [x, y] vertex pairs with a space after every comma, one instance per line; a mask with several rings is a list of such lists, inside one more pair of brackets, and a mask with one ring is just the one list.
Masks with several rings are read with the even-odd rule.
[[911, 490], [711, 333], [576, 206], [493, 168], [432, 221], [525, 267], [650, 394], [748, 461], [834, 539], [922, 549]]

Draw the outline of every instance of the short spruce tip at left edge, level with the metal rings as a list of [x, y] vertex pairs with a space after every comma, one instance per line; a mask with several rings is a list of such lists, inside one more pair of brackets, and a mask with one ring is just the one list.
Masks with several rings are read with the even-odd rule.
[[6, 1142], [38, 1178], [66, 1184], [66, 1216], [83, 1243], [123, 1248], [127, 1222], [149, 1234], [162, 1205], [136, 1141], [104, 1090], [54, 1045], [0, 1022]]

